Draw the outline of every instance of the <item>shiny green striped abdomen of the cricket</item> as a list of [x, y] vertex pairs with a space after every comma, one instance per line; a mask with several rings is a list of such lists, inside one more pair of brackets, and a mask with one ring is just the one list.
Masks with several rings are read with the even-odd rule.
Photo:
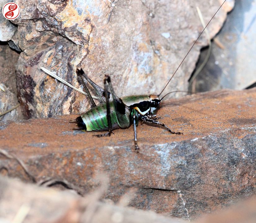
[[[110, 102], [110, 117], [112, 129], [114, 130], [119, 128], [116, 120], [113, 102]], [[86, 125], [86, 131], [108, 130], [107, 108], [105, 103], [90, 109], [86, 113], [82, 114], [81, 118]]]

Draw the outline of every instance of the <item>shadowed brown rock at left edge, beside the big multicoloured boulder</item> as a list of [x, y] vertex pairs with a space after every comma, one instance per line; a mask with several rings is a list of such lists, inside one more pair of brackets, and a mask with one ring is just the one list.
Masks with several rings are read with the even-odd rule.
[[[0, 90], [0, 113], [11, 109], [18, 104], [15, 64], [19, 54], [11, 50], [7, 44], [0, 43], [0, 84], [4, 87], [5, 92]], [[22, 120], [23, 114], [21, 108], [17, 108], [10, 113], [0, 116], [0, 121]]]

